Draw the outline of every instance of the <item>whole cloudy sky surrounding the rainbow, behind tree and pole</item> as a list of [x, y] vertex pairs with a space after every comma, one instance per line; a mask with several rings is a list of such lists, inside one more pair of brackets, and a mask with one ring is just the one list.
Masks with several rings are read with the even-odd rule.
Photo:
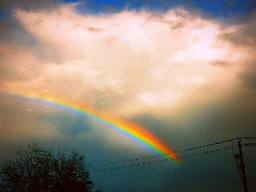
[[[250, 0], [1, 0], [0, 162], [38, 141], [77, 149], [103, 191], [242, 191], [233, 155], [246, 137], [250, 191], [255, 52]], [[139, 126], [180, 161], [36, 100], [56, 95]]]

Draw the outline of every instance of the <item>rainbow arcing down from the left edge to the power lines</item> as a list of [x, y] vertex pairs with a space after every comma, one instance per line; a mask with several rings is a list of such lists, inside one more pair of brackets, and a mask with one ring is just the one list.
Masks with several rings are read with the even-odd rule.
[[33, 94], [32, 96], [3, 92], [3, 94], [12, 96], [15, 98], [28, 100], [30, 102], [41, 103], [51, 107], [55, 107], [61, 110], [68, 111], [70, 113], [83, 116], [88, 120], [92, 120], [103, 127], [115, 130], [126, 137], [136, 141], [140, 145], [146, 146], [161, 155], [164, 155], [170, 160], [175, 160], [179, 162], [180, 159], [176, 156], [171, 149], [169, 149], [165, 144], [162, 143], [156, 136], [151, 132], [143, 129], [143, 127], [123, 120], [114, 116], [111, 116], [105, 111], [96, 110], [91, 106], [85, 104], [84, 102], [72, 100], [66, 97], [48, 94]]

